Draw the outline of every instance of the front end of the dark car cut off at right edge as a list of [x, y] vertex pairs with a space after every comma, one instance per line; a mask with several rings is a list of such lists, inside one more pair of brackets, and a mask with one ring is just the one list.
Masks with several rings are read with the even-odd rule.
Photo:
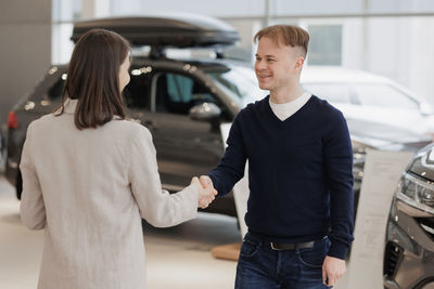
[[434, 144], [413, 157], [398, 184], [383, 273], [385, 288], [434, 288]]

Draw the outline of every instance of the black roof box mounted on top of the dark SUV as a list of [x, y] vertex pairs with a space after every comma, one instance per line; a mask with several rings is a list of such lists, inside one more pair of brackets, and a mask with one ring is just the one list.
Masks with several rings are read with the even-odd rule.
[[78, 22], [71, 39], [92, 28], [103, 28], [124, 36], [133, 47], [213, 47], [233, 45], [240, 40], [230, 25], [208, 16], [192, 14], [100, 18]]

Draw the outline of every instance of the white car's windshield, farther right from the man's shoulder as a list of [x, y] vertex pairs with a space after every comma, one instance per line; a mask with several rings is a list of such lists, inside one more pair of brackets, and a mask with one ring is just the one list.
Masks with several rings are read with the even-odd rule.
[[388, 84], [360, 83], [355, 89], [361, 105], [419, 109], [417, 101]]

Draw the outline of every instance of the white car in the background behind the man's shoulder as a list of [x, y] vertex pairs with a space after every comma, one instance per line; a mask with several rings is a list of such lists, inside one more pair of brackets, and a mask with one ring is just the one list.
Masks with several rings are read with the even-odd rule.
[[361, 70], [306, 67], [303, 87], [328, 100], [347, 119], [383, 123], [418, 134], [434, 132], [431, 107], [397, 82]]

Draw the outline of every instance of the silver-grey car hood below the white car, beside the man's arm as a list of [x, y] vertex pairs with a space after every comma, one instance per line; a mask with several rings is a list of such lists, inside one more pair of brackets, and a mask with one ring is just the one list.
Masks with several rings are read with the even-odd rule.
[[346, 118], [352, 139], [378, 149], [417, 150], [432, 142], [430, 135], [405, 128], [355, 118]]

